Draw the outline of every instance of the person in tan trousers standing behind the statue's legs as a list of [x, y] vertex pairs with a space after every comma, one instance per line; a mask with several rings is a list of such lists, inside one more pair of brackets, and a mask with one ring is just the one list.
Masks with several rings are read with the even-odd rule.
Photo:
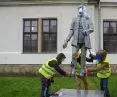
[[[81, 53], [77, 52], [76, 53], [76, 58], [77, 58], [77, 65], [75, 67], [75, 75], [76, 75], [76, 84], [77, 84], [77, 90], [81, 89], [81, 83], [83, 82], [84, 84], [84, 89], [88, 90], [88, 82], [87, 82], [87, 74], [85, 71], [85, 74], [83, 76], [80, 76], [80, 69], [81, 69]], [[87, 58], [87, 62], [93, 62], [92, 58]], [[85, 67], [86, 69], [86, 67]]]

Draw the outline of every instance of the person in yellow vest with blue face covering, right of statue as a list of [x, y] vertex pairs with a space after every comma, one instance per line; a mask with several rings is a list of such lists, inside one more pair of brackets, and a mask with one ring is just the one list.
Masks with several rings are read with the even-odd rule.
[[111, 75], [111, 67], [105, 50], [99, 50], [95, 56], [97, 68], [88, 68], [88, 72], [97, 72], [100, 78], [100, 89], [104, 91], [105, 97], [110, 97], [108, 89], [108, 78]]

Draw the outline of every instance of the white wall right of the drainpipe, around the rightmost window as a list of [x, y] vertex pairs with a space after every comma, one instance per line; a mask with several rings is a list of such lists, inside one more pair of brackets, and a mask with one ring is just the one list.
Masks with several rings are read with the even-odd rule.
[[[103, 20], [117, 21], [117, 7], [102, 7], [101, 8], [101, 48], [103, 48]], [[117, 64], [117, 54], [108, 54], [111, 64]]]

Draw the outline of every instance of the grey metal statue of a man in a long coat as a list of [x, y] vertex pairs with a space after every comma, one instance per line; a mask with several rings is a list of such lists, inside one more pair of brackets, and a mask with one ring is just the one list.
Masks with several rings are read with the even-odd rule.
[[72, 38], [72, 74], [74, 74], [75, 66], [77, 64], [76, 53], [81, 49], [81, 72], [84, 75], [84, 67], [86, 61], [87, 49], [91, 49], [90, 34], [93, 32], [93, 24], [88, 14], [88, 8], [82, 5], [78, 8], [76, 18], [73, 18], [66, 40], [64, 41], [63, 48], [67, 47], [68, 42]]

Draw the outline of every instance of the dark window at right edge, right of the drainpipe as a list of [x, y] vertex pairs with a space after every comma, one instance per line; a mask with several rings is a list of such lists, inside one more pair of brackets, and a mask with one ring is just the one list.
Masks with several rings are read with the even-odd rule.
[[104, 49], [117, 53], [117, 21], [103, 21]]

